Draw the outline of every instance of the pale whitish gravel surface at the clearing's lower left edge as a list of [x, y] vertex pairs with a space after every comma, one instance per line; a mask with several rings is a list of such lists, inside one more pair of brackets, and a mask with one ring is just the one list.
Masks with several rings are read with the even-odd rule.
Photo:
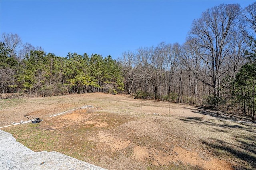
[[59, 152], [34, 152], [0, 130], [0, 170], [104, 170]]

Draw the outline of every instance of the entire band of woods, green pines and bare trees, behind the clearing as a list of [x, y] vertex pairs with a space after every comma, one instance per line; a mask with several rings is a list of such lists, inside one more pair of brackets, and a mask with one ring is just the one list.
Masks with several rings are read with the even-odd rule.
[[256, 2], [208, 9], [184, 44], [139, 47], [117, 60], [46, 54], [12, 33], [0, 45], [1, 94], [129, 93], [256, 116]]

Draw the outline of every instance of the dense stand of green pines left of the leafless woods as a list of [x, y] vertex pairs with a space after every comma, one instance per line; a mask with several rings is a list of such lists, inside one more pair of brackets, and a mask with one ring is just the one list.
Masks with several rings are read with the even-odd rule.
[[124, 90], [121, 69], [111, 56], [68, 53], [66, 57], [58, 57], [32, 49], [19, 62], [5, 43], [0, 45], [1, 93], [24, 92], [45, 97]]

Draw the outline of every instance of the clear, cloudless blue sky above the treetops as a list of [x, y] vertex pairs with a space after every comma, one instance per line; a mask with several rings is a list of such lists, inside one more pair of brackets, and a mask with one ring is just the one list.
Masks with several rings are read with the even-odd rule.
[[1, 35], [65, 57], [68, 52], [120, 57], [124, 51], [184, 43], [192, 21], [219, 4], [254, 1], [0, 1]]

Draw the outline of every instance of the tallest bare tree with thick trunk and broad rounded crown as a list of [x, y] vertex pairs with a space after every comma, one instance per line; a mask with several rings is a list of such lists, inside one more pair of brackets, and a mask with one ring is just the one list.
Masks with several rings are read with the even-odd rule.
[[230, 69], [223, 68], [223, 62], [231, 53], [232, 32], [238, 31], [240, 11], [238, 4], [221, 4], [203, 12], [192, 24], [190, 40], [204, 49], [200, 56], [212, 79], [211, 83], [200, 81], [213, 88], [215, 97], [219, 96], [220, 77]]

